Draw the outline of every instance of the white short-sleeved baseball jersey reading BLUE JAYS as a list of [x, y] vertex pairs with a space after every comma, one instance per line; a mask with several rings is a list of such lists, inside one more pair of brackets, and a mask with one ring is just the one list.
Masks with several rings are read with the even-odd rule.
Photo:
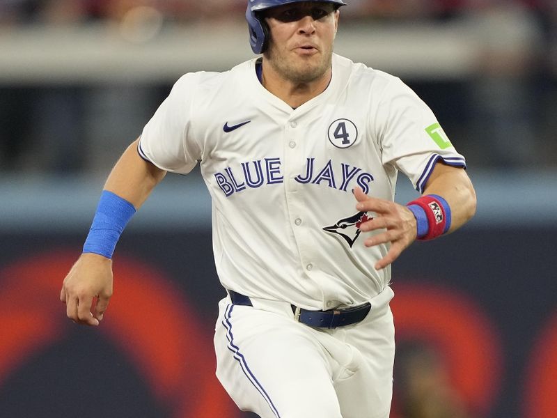
[[146, 125], [139, 153], [189, 173], [201, 162], [212, 196], [213, 249], [225, 288], [306, 309], [367, 302], [391, 278], [373, 267], [352, 189], [393, 200], [398, 171], [422, 191], [434, 163], [464, 157], [400, 79], [333, 56], [327, 89], [292, 109], [269, 93], [256, 61], [183, 76]]

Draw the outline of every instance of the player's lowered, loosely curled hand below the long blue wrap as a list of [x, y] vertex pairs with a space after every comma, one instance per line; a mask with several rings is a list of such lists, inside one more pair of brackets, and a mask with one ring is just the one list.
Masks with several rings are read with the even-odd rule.
[[78, 324], [99, 325], [112, 296], [112, 281], [112, 260], [97, 254], [81, 254], [60, 292], [68, 318]]

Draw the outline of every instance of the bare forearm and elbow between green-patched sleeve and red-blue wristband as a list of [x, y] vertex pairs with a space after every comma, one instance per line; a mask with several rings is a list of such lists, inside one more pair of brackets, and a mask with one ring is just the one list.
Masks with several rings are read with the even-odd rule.
[[423, 194], [438, 194], [450, 207], [451, 222], [448, 233], [459, 229], [476, 213], [476, 192], [463, 169], [438, 164]]

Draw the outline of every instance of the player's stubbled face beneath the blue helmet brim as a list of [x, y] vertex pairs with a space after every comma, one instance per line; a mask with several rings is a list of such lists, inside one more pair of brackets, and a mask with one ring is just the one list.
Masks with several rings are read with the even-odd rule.
[[267, 10], [270, 41], [265, 59], [290, 82], [317, 81], [331, 69], [338, 15], [331, 3], [315, 1]]

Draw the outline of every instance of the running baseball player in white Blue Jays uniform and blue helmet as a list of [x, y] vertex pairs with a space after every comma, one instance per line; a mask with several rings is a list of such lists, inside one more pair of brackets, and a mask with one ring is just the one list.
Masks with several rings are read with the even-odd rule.
[[[127, 221], [166, 172], [199, 162], [226, 289], [217, 376], [261, 417], [389, 417], [391, 263], [476, 210], [464, 157], [426, 104], [333, 53], [344, 5], [248, 2], [262, 56], [176, 82], [113, 168], [61, 291], [70, 318], [99, 325]], [[399, 171], [421, 193], [406, 206], [393, 202]]]

